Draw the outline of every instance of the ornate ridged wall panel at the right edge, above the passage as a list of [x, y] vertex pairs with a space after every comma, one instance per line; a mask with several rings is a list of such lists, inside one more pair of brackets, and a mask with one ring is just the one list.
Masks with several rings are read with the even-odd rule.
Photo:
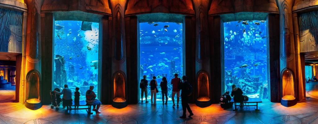
[[299, 49], [300, 52], [318, 50], [318, 11], [299, 15]]

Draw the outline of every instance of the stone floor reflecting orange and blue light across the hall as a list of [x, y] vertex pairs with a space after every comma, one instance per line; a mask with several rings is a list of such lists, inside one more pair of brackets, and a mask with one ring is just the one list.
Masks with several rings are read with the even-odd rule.
[[[318, 83], [310, 85], [317, 87]], [[50, 106], [30, 110], [19, 103], [0, 103], [0, 123], [318, 123], [318, 89], [308, 90], [306, 95], [306, 100], [292, 107], [284, 107], [280, 103], [263, 102], [259, 104], [259, 111], [255, 111], [254, 107], [242, 107], [237, 112], [233, 112], [232, 108], [224, 110], [218, 104], [212, 104], [206, 108], [191, 104], [195, 115], [187, 119], [179, 118], [182, 114], [181, 104], [179, 104], [180, 107], [173, 108], [170, 101], [168, 105], [162, 105], [160, 104], [162, 101], [157, 101], [156, 106], [138, 103], [122, 109], [102, 105], [100, 108], [102, 113], [92, 115], [87, 115], [85, 110], [72, 110], [70, 115], [65, 115], [62, 107], [56, 112]]]

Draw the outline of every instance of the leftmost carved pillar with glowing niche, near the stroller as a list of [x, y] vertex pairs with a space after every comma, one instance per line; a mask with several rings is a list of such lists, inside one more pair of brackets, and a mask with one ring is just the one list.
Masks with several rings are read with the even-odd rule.
[[[41, 41], [40, 41], [40, 6], [41, 3], [38, 0], [27, 0], [28, 6], [28, 18], [27, 18], [27, 34], [26, 34], [26, 61], [25, 61], [25, 81], [23, 88], [25, 90], [25, 96], [22, 98], [22, 103], [31, 99], [31, 96], [35, 96], [32, 93], [41, 93]], [[30, 77], [38, 77], [38, 79]], [[34, 89], [34, 85], [38, 84], [38, 91], [31, 91]], [[31, 92], [30, 92], [31, 91]], [[26, 97], [30, 98], [26, 98]], [[32, 97], [33, 98], [33, 97]], [[41, 100], [41, 96], [38, 98]]]

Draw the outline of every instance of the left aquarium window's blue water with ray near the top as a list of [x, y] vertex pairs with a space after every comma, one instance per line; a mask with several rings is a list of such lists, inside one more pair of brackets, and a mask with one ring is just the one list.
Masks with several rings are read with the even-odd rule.
[[97, 95], [98, 35], [98, 23], [55, 21], [52, 89], [68, 84], [74, 95], [79, 87], [80, 100], [86, 100], [86, 90], [93, 85]]

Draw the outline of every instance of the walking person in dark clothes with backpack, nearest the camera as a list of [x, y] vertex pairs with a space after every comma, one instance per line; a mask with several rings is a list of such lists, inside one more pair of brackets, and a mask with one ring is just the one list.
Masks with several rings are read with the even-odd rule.
[[190, 113], [189, 117], [193, 115], [191, 108], [188, 104], [188, 99], [189, 96], [192, 94], [193, 87], [192, 85], [188, 82], [187, 76], [182, 76], [183, 83], [181, 83], [181, 105], [182, 105], [182, 110], [183, 114], [180, 116], [180, 118], [186, 118], [186, 110], [188, 109], [188, 112]]

